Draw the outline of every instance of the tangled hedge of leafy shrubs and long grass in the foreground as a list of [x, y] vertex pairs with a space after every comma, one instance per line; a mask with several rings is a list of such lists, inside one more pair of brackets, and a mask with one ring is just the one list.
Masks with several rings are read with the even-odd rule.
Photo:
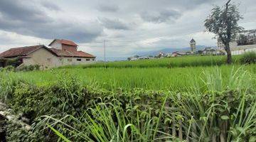
[[7, 139], [253, 141], [255, 72], [233, 67], [228, 76], [218, 68], [201, 74], [205, 77], [186, 89], [171, 91], [104, 89], [97, 83], [82, 84], [82, 78], [68, 72], [57, 75], [57, 82], [38, 86], [20, 72], [1, 72], [1, 100], [33, 126], [25, 133], [9, 125]]

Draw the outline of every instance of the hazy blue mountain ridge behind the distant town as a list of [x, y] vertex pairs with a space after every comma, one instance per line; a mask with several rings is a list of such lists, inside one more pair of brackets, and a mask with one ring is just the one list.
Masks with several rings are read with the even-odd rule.
[[[206, 46], [206, 45], [196, 45], [196, 50], [203, 50], [204, 48], [215, 48], [214, 46]], [[163, 48], [161, 50], [152, 50], [152, 51], [146, 51], [146, 52], [140, 52], [140, 53], [134, 53], [134, 55], [139, 55], [139, 56], [148, 56], [148, 55], [158, 55], [160, 52], [163, 53], [173, 53], [175, 51], [180, 51], [180, 52], [186, 52], [190, 51], [191, 48]]]

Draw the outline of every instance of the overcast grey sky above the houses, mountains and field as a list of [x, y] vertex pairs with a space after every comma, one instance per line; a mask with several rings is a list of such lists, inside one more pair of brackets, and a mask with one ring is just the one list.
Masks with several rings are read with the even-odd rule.
[[[233, 0], [256, 28], [255, 0]], [[79, 49], [107, 58], [163, 48], [216, 45], [203, 21], [223, 0], [0, 0], [0, 52], [25, 45], [48, 45], [54, 38], [74, 40]]]

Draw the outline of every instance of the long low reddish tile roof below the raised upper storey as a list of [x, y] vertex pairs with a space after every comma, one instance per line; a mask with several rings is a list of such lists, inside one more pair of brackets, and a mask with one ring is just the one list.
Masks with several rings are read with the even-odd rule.
[[95, 58], [94, 55], [89, 53], [85, 53], [83, 51], [68, 51], [68, 50], [60, 50], [55, 48], [50, 48], [56, 55], [63, 57], [77, 57], [77, 58]]

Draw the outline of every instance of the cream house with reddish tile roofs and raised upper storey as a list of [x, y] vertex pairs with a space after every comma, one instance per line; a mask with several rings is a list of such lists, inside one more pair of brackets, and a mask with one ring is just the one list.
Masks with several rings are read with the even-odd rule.
[[45, 45], [11, 48], [0, 53], [0, 58], [2, 60], [18, 59], [16, 67], [40, 65], [42, 68], [87, 64], [94, 62], [96, 58], [94, 55], [78, 50], [78, 45], [70, 40], [55, 39], [49, 46], [51, 48]]

